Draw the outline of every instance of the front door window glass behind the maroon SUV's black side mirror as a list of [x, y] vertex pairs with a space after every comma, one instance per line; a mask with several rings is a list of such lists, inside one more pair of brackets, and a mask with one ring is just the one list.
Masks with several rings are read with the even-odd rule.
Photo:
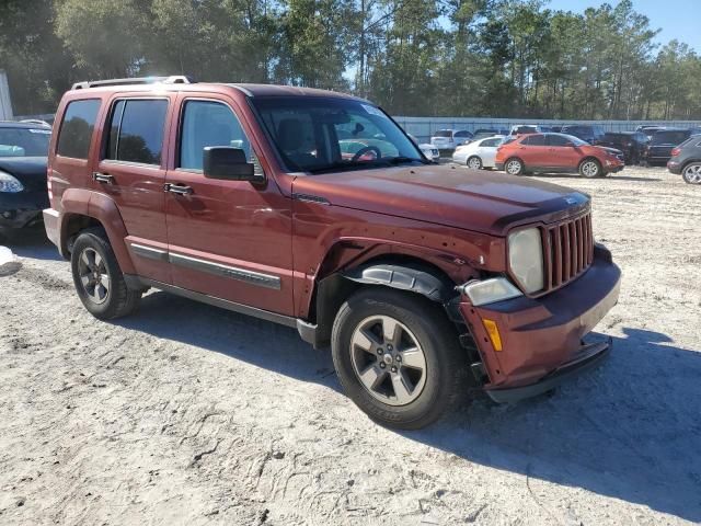
[[185, 170], [202, 170], [207, 146], [241, 148], [249, 162], [251, 142], [231, 108], [220, 102], [187, 101], [182, 117], [180, 164]]

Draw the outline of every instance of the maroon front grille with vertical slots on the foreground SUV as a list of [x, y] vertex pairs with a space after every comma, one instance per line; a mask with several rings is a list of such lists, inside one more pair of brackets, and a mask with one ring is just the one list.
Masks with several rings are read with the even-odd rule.
[[583, 274], [594, 260], [591, 214], [545, 227], [543, 233], [545, 291]]

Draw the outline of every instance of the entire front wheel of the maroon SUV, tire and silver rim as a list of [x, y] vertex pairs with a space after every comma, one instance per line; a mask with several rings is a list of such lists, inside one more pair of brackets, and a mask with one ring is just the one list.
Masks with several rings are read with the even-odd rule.
[[455, 327], [411, 293], [371, 287], [352, 296], [336, 316], [332, 354], [346, 395], [387, 426], [424, 427], [468, 388]]

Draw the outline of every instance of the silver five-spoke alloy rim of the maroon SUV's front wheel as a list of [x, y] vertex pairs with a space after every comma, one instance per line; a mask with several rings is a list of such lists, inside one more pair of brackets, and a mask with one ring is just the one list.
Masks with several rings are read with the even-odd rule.
[[350, 338], [353, 369], [366, 391], [389, 405], [406, 405], [426, 384], [426, 356], [414, 334], [389, 316], [358, 323]]

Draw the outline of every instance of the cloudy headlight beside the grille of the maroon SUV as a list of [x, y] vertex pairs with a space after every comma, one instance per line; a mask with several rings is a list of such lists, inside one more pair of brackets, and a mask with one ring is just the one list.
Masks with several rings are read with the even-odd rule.
[[518, 230], [509, 235], [508, 264], [524, 290], [529, 294], [542, 290], [543, 245], [538, 228]]

